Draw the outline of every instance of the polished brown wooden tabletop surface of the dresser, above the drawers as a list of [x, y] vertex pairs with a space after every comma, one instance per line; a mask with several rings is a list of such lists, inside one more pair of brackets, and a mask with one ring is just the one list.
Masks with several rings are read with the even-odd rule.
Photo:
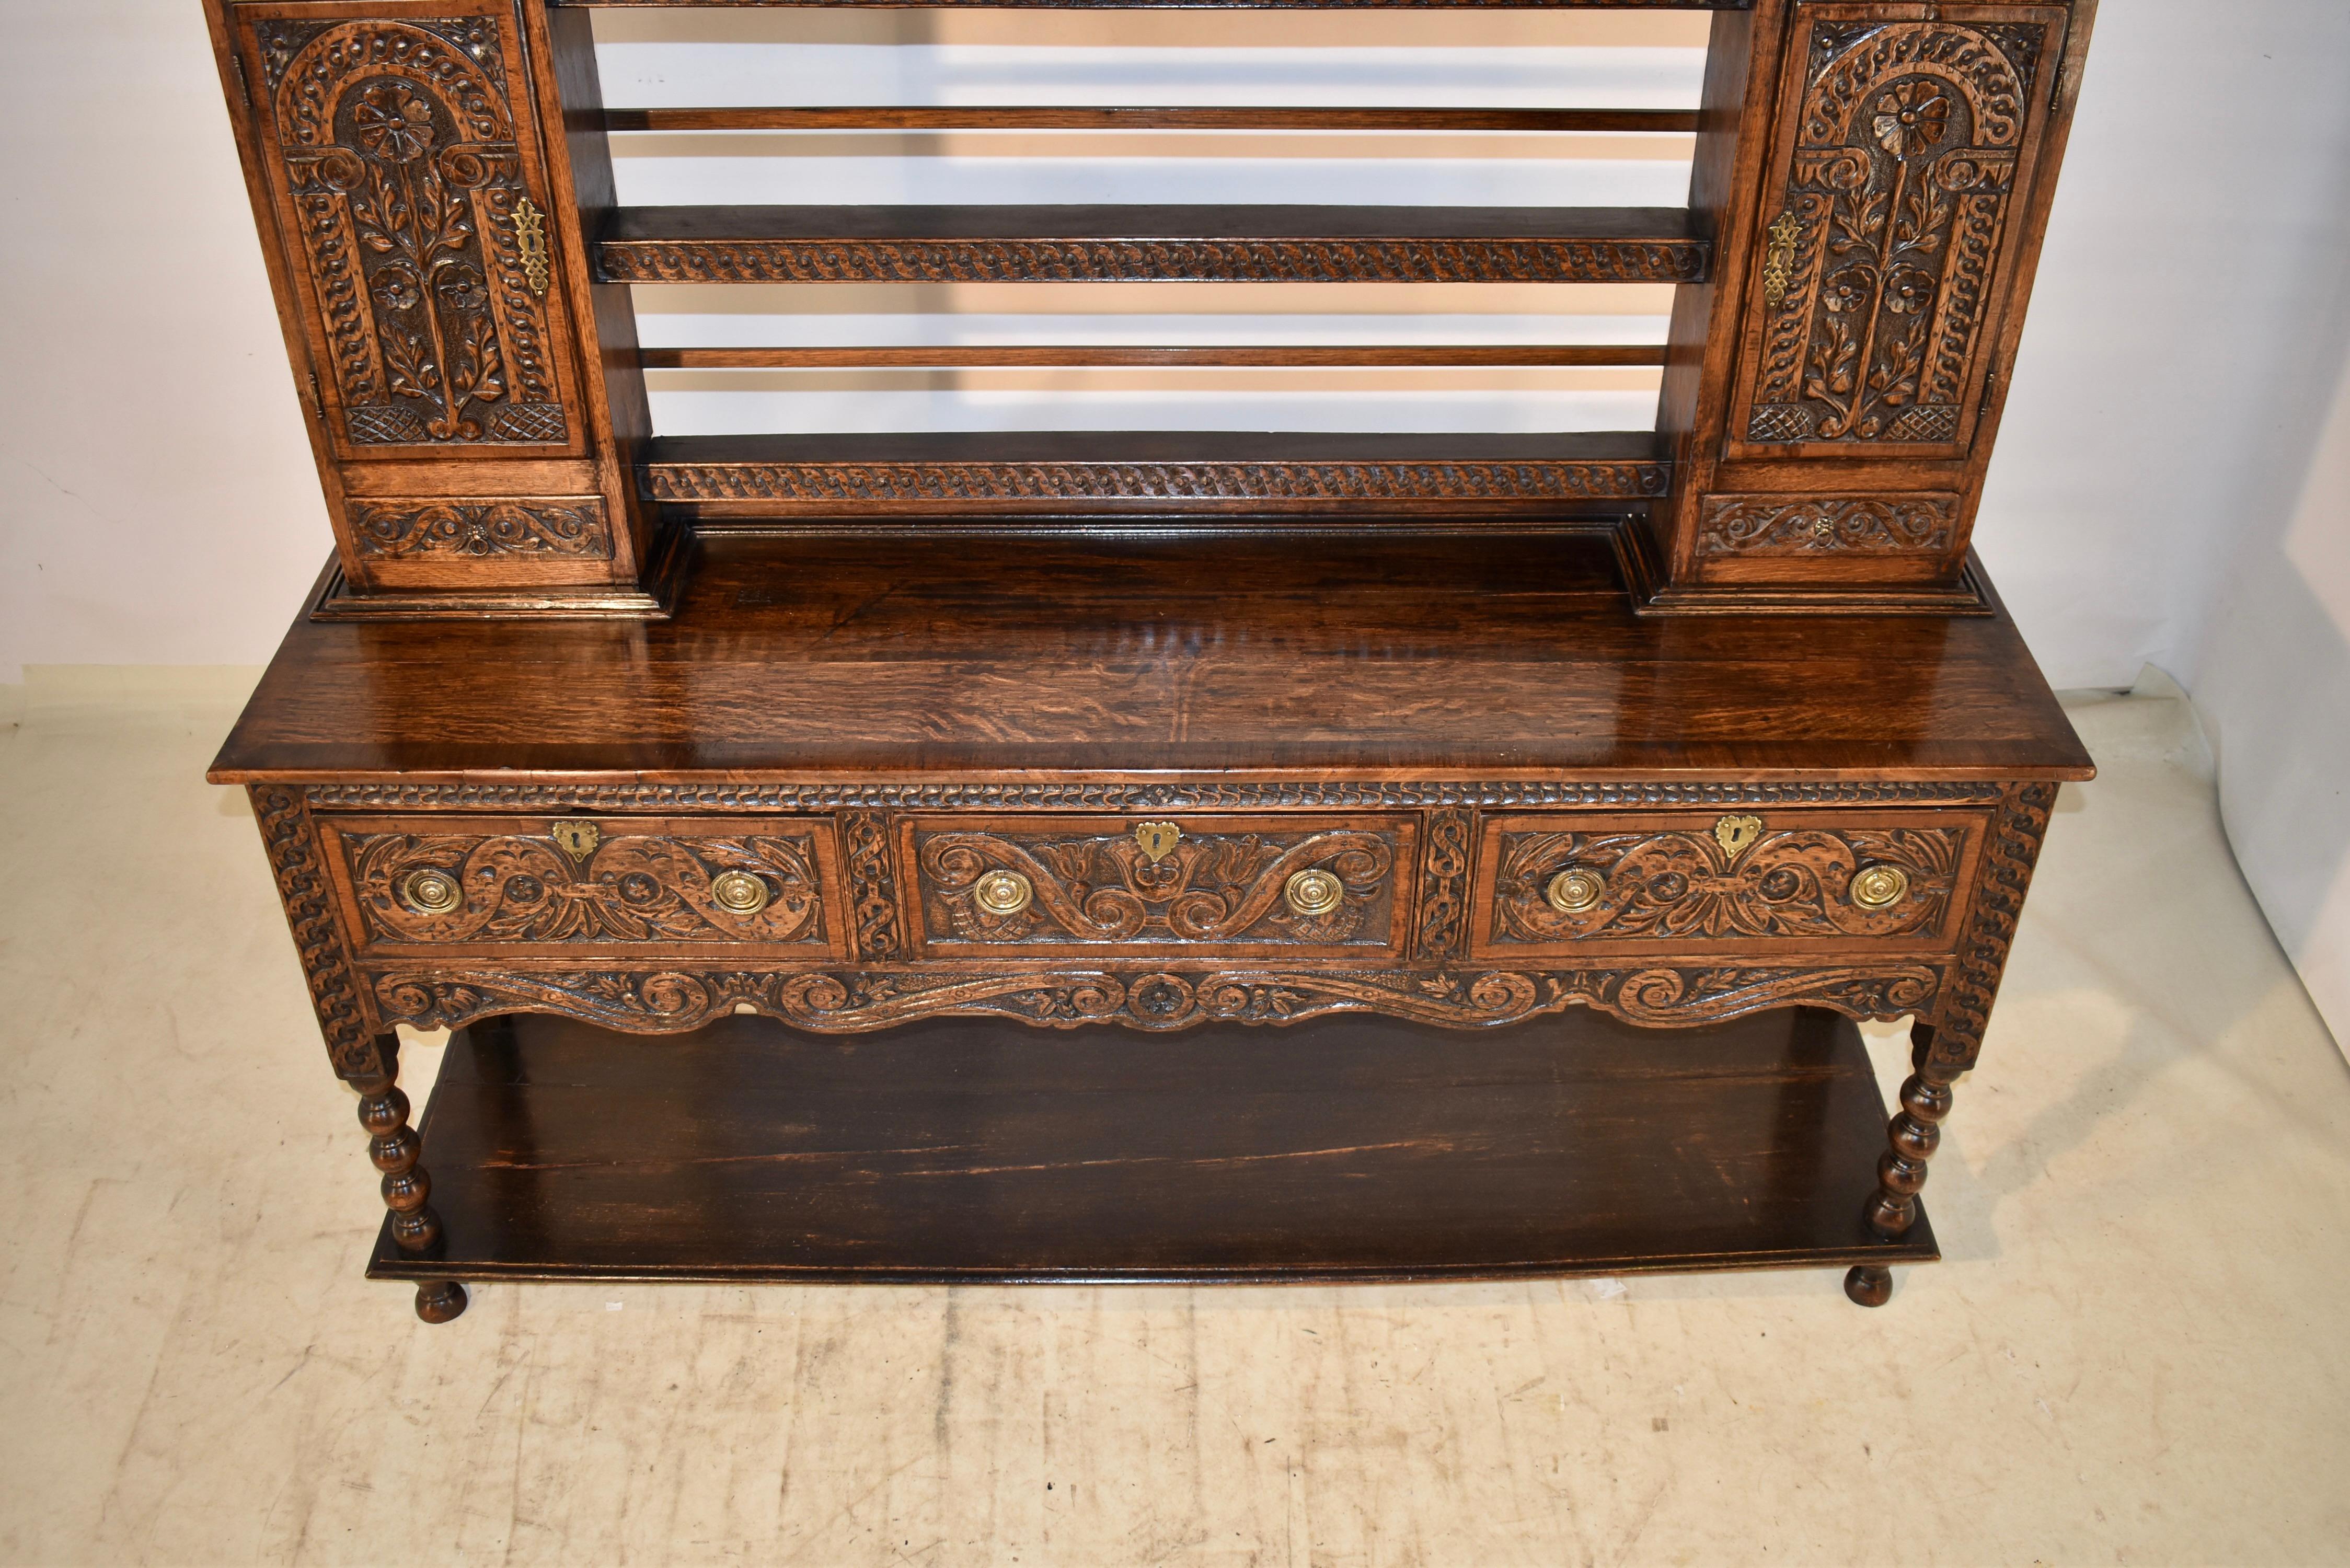
[[2005, 609], [1636, 616], [1582, 538], [721, 536], [674, 618], [296, 621], [216, 783], [2087, 778]]

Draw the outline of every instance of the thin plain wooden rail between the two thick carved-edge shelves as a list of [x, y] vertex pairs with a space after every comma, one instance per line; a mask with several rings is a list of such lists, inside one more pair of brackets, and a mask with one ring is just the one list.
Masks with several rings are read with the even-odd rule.
[[1622, 367], [1664, 364], [1661, 343], [1502, 346], [1278, 346], [1278, 348], [1088, 348], [1088, 346], [909, 346], [909, 348], [646, 348], [644, 369], [964, 369], [964, 367]]

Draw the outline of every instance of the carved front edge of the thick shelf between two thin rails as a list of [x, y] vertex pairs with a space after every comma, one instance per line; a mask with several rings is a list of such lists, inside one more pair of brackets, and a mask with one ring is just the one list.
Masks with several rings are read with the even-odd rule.
[[604, 282], [1697, 282], [1699, 240], [604, 240]]

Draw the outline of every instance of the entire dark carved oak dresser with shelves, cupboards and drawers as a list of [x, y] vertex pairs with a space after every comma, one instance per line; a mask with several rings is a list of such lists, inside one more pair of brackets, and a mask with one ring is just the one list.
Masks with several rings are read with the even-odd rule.
[[[336, 527], [212, 778], [362, 1095], [371, 1272], [444, 1321], [479, 1279], [1847, 1265], [1880, 1305], [1932, 1260], [2089, 776], [1967, 538], [2092, 0], [1645, 2], [1713, 12], [1692, 113], [606, 108], [576, 0], [207, 0]], [[1680, 209], [613, 195], [611, 136], [959, 125], [1697, 158]], [[1516, 360], [637, 346], [630, 284], [768, 280], [1676, 308]], [[1617, 435], [759, 437], [644, 390], [1332, 360], [1664, 390]], [[1871, 1018], [1913, 1020], [1889, 1124]], [[456, 1030], [418, 1126], [400, 1025]]]

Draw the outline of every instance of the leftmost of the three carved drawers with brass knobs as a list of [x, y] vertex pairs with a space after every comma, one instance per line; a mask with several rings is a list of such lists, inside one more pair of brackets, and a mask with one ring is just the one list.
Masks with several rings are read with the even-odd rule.
[[407, 952], [839, 957], [827, 818], [320, 818], [343, 926]]

